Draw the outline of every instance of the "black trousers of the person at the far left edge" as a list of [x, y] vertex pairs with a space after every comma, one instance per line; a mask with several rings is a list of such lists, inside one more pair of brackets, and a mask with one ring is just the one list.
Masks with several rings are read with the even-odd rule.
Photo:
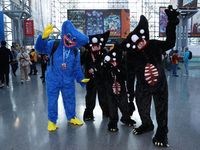
[[6, 84], [9, 84], [9, 64], [0, 66], [0, 80], [4, 83], [4, 76], [6, 76]]

